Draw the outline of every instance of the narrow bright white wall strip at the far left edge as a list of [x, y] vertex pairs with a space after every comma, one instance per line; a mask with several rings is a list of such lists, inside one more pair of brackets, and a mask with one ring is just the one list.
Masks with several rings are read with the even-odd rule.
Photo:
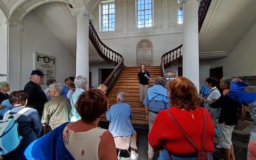
[[[0, 74], [7, 74], [7, 25], [0, 20]], [[0, 76], [0, 81], [7, 81], [7, 76]]]

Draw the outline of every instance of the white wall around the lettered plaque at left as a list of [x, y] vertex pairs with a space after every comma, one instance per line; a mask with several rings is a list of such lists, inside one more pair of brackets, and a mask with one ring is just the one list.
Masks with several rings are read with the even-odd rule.
[[33, 70], [34, 51], [56, 57], [56, 81], [63, 83], [66, 77], [76, 75], [74, 57], [33, 12], [26, 16], [22, 24], [24, 29], [21, 30], [15, 26], [10, 27], [10, 85], [12, 90], [22, 89], [24, 84], [28, 83], [31, 70]]

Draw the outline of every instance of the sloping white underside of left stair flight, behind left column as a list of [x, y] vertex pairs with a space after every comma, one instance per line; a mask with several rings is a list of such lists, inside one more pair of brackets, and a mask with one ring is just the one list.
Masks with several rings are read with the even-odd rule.
[[[76, 57], [76, 16], [71, 15], [67, 3], [51, 3], [36, 8], [37, 17], [67, 47], [68, 52]], [[89, 45], [90, 61], [103, 61], [92, 43]]]

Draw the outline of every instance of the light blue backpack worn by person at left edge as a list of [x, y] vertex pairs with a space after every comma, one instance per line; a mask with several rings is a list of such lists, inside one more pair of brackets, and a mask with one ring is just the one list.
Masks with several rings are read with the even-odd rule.
[[29, 109], [20, 109], [13, 115], [10, 111], [4, 113], [3, 120], [0, 120], [0, 155], [8, 154], [19, 146], [22, 136], [19, 136], [17, 119]]

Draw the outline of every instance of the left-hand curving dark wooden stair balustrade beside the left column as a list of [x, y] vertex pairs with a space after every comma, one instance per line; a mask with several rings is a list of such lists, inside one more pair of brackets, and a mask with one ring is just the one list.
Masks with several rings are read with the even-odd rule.
[[108, 61], [109, 63], [113, 63], [114, 65], [116, 65], [114, 70], [103, 83], [108, 88], [106, 92], [106, 95], [108, 96], [116, 80], [118, 79], [118, 76], [124, 68], [124, 57], [120, 53], [110, 49], [106, 44], [102, 42], [102, 40], [100, 40], [100, 37], [97, 34], [95, 28], [93, 27], [92, 22], [89, 22], [89, 38], [96, 51], [99, 53], [100, 57]]

